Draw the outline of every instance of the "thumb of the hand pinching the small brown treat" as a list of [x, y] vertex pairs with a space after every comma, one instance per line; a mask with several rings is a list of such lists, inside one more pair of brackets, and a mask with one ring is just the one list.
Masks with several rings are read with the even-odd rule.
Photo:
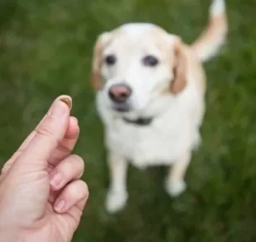
[[35, 129], [35, 136], [26, 150], [17, 158], [15, 170], [35, 172], [46, 169], [51, 153], [63, 140], [69, 126], [70, 106], [70, 97], [65, 96], [54, 101], [45, 119]]

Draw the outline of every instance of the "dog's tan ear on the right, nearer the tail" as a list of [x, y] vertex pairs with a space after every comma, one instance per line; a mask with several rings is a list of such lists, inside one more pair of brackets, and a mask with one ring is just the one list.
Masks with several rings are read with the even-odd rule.
[[173, 94], [178, 94], [183, 91], [187, 84], [187, 57], [183, 42], [179, 38], [174, 43], [173, 61], [173, 80], [171, 81], [170, 91]]

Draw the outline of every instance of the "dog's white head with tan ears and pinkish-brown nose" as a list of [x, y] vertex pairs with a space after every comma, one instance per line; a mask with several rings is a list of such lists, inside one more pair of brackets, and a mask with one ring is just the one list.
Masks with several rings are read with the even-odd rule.
[[151, 24], [128, 24], [100, 35], [94, 46], [92, 86], [108, 108], [143, 112], [160, 95], [186, 86], [183, 42]]

